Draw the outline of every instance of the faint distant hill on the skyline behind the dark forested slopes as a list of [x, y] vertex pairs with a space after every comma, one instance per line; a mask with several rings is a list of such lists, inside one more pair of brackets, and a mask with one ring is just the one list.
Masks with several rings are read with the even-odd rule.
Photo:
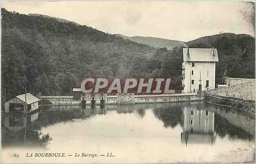
[[129, 39], [137, 43], [147, 44], [154, 46], [155, 48], [167, 48], [168, 50], [174, 48], [174, 46], [183, 46], [185, 42], [179, 40], [169, 40], [155, 37], [143, 37], [143, 36], [124, 36], [121, 34], [116, 34], [124, 39]]

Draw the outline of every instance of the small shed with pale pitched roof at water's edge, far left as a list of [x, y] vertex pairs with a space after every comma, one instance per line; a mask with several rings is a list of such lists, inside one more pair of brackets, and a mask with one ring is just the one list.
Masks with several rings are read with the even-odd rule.
[[[25, 100], [26, 97], [26, 100]], [[5, 112], [10, 113], [10, 112], [23, 112], [23, 113], [29, 113], [34, 110], [38, 109], [38, 99], [37, 97], [31, 95], [30, 93], [27, 93], [26, 96], [25, 94], [23, 95], [18, 95], [15, 96], [15, 98], [5, 102]], [[26, 105], [27, 103], [27, 110], [26, 110]]]

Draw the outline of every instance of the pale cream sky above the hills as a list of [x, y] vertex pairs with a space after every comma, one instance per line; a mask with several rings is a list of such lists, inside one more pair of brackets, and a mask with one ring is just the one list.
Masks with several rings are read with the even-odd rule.
[[8, 11], [44, 14], [111, 34], [190, 41], [219, 33], [254, 36], [243, 2], [2, 2]]

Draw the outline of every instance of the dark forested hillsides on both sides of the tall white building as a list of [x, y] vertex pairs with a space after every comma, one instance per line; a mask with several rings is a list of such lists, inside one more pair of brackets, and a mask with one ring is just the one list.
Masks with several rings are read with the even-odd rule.
[[[237, 36], [237, 37], [236, 37]], [[188, 42], [218, 49], [217, 78], [254, 78], [254, 38], [220, 34]], [[182, 47], [156, 49], [72, 22], [2, 8], [2, 102], [25, 92], [72, 92], [89, 77], [172, 78], [182, 90]]]

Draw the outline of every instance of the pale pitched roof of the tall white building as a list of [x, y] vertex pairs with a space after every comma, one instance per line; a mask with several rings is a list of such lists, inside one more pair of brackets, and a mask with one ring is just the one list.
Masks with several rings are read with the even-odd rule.
[[183, 48], [183, 61], [218, 62], [218, 52], [217, 49]]

